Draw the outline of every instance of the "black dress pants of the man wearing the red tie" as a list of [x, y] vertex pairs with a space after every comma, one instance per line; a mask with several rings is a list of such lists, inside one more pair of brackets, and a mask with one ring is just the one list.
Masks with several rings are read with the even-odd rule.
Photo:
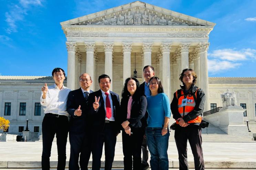
[[93, 132], [92, 155], [93, 170], [100, 169], [100, 159], [102, 157], [103, 144], [105, 147], [105, 170], [111, 170], [115, 156], [116, 147], [116, 125], [115, 122], [105, 123], [102, 132]]

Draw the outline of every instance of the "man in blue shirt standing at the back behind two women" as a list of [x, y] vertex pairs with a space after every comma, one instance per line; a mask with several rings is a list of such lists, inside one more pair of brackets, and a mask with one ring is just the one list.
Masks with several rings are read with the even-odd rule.
[[[140, 84], [139, 90], [141, 94], [146, 95], [146, 97], [150, 96], [150, 91], [149, 91], [149, 80], [151, 77], [154, 76], [154, 67], [147, 65], [143, 68], [143, 77], [145, 81]], [[145, 114], [145, 120], [147, 121], [147, 115], [148, 113], [146, 112]], [[145, 123], [147, 124], [147, 122]], [[141, 162], [141, 170], [148, 170], [149, 164], [148, 164], [148, 149], [147, 149], [147, 140], [144, 137], [143, 142], [142, 142], [142, 162]]]

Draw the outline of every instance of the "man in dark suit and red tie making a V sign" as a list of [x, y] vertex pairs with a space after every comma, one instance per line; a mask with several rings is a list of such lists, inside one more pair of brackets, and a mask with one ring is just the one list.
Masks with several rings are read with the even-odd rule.
[[119, 95], [109, 91], [111, 79], [108, 75], [99, 76], [100, 90], [90, 93], [88, 106], [92, 129], [93, 170], [100, 169], [103, 144], [105, 146], [105, 170], [111, 170], [115, 156], [116, 136], [120, 133], [118, 115]]

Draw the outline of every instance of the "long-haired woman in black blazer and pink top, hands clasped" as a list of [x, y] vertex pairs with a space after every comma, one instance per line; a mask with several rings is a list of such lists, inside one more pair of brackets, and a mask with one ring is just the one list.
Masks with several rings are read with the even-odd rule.
[[136, 78], [125, 80], [120, 108], [124, 170], [131, 170], [132, 167], [134, 170], [140, 170], [145, 127], [143, 118], [147, 110], [147, 99], [140, 94], [139, 81]]

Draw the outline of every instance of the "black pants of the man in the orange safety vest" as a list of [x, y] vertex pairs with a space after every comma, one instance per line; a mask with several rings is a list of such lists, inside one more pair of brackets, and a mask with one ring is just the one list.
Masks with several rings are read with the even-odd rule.
[[178, 126], [175, 129], [174, 138], [179, 154], [180, 170], [189, 169], [187, 159], [188, 140], [194, 156], [195, 170], [204, 170], [201, 127], [198, 125]]

